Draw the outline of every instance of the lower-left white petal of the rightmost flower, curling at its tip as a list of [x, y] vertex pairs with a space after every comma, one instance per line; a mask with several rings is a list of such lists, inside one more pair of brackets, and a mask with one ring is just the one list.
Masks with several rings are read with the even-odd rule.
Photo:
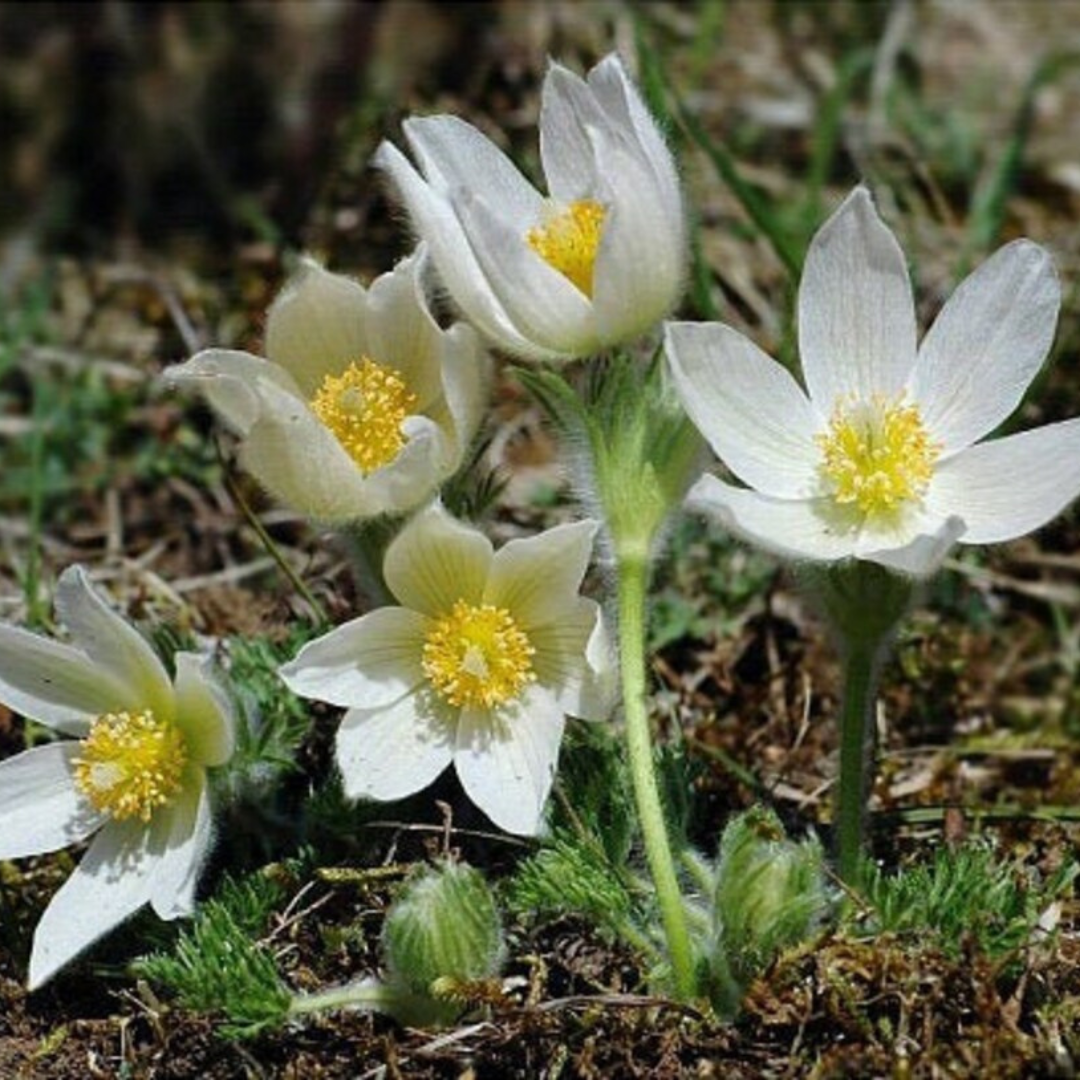
[[690, 488], [686, 504], [782, 558], [831, 562], [854, 555], [855, 537], [837, 529], [826, 499], [773, 499], [706, 475]]

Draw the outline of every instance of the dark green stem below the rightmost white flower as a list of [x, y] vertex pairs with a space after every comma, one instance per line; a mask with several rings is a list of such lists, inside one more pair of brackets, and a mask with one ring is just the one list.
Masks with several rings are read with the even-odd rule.
[[840, 777], [837, 789], [837, 873], [858, 885], [866, 839], [866, 809], [874, 774], [874, 703], [877, 691], [876, 643], [848, 642], [840, 700]]

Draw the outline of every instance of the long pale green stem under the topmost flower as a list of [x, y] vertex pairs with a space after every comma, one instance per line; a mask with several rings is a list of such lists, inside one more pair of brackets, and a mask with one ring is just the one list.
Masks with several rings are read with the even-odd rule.
[[626, 723], [626, 751], [634, 784], [637, 818], [645, 840], [645, 855], [652, 875], [660, 905], [660, 917], [667, 940], [675, 993], [689, 1001], [694, 996], [693, 951], [687, 928], [683, 895], [675, 875], [667, 823], [652, 756], [652, 735], [646, 708], [645, 679], [645, 595], [648, 578], [646, 556], [620, 555], [618, 565], [618, 603], [620, 671]]

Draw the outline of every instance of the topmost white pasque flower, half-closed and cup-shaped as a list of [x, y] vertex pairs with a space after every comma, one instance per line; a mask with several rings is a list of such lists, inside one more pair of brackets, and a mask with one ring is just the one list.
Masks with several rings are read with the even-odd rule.
[[376, 164], [455, 302], [502, 349], [534, 360], [592, 355], [675, 305], [687, 243], [678, 175], [613, 53], [586, 79], [559, 64], [548, 70], [540, 159], [550, 198], [456, 117], [403, 127], [420, 172], [389, 143]]

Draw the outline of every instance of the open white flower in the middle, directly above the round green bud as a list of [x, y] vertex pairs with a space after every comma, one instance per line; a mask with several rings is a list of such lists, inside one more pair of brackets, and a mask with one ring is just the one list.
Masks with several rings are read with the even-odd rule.
[[611, 665], [599, 606], [578, 595], [596, 526], [498, 552], [433, 504], [387, 549], [383, 607], [281, 669], [306, 698], [348, 707], [337, 760], [350, 798], [399, 799], [453, 762], [497, 825], [535, 833], [565, 716], [603, 719]]

